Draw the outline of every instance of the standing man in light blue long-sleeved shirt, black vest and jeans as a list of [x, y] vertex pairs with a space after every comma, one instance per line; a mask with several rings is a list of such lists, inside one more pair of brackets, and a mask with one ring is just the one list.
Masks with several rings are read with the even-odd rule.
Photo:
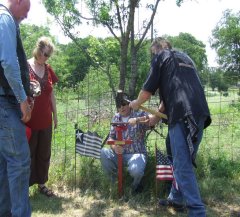
[[30, 151], [25, 123], [29, 71], [19, 23], [27, 17], [30, 0], [0, 3], [0, 216], [29, 217]]

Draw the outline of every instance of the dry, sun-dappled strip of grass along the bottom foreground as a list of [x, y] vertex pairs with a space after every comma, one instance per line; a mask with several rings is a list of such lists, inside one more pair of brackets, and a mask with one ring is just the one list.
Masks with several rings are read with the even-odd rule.
[[[141, 195], [129, 199], [101, 198], [87, 192], [69, 191], [63, 187], [54, 188], [56, 197], [46, 198], [36, 190], [31, 191], [33, 217], [170, 217], [187, 216], [187, 212], [176, 213], [171, 209], [156, 209], [156, 203], [142, 204]], [[240, 217], [240, 198], [231, 204], [211, 201], [207, 205], [207, 216]]]

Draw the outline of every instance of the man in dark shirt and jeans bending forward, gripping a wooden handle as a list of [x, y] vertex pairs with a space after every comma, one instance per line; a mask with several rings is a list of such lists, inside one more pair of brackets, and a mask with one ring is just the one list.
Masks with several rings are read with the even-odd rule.
[[197, 70], [185, 53], [172, 50], [163, 38], [151, 46], [156, 54], [142, 90], [130, 107], [138, 109], [159, 90], [159, 110], [168, 116], [168, 130], [173, 157], [174, 175], [179, 189], [174, 186], [168, 199], [161, 205], [186, 203], [189, 216], [206, 216], [193, 166], [201, 142], [203, 129], [210, 125], [211, 118]]

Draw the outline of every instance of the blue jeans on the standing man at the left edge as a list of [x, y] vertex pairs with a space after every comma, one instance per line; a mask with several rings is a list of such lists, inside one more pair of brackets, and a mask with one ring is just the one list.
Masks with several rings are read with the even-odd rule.
[[29, 217], [30, 151], [20, 106], [0, 96], [0, 217]]

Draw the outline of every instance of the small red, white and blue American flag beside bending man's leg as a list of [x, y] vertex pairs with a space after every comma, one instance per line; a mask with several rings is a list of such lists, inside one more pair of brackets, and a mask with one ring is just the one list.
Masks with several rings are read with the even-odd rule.
[[170, 180], [173, 185], [178, 189], [177, 182], [173, 174], [173, 166], [171, 161], [156, 148], [156, 179], [157, 180]]

